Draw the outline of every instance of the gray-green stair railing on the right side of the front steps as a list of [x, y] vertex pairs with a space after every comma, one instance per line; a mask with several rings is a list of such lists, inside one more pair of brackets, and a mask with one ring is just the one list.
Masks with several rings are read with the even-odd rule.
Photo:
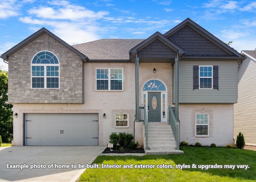
[[169, 106], [169, 124], [171, 125], [172, 133], [174, 135], [174, 139], [176, 142], [176, 150], [180, 150], [179, 125], [178, 122], [176, 121], [171, 106]]

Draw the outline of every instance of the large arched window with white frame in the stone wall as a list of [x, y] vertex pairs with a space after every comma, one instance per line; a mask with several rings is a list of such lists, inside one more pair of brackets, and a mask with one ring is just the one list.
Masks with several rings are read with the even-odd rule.
[[49, 51], [37, 53], [31, 63], [32, 88], [59, 88], [59, 61]]

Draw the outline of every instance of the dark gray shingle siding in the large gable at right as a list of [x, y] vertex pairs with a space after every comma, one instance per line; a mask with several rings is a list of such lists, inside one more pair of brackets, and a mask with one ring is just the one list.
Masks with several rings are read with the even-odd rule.
[[182, 47], [186, 55], [230, 55], [189, 25], [185, 25], [168, 39]]

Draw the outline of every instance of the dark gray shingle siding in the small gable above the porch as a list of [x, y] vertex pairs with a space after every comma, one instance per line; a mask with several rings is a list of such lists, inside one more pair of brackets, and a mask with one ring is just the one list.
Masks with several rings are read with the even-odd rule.
[[174, 58], [177, 57], [177, 53], [164, 44], [159, 39], [155, 39], [145, 47], [143, 47], [137, 53], [137, 57], [150, 57], [150, 58]]

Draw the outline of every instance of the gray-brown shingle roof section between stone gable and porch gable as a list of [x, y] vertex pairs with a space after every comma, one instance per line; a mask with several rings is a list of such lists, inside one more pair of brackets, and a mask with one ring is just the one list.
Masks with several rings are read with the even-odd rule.
[[90, 60], [129, 60], [129, 51], [144, 39], [100, 39], [73, 45]]

